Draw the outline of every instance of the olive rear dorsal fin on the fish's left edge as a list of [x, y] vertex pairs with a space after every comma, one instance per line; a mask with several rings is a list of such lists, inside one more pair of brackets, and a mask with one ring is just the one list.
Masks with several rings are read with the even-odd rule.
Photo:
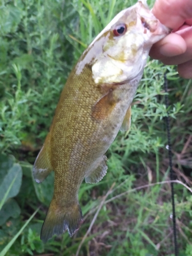
[[37, 183], [44, 181], [52, 170], [50, 134], [48, 134], [33, 165], [33, 176], [35, 181]]

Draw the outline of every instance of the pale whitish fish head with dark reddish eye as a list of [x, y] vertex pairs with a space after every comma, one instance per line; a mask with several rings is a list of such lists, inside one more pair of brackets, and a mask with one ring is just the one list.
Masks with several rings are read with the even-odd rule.
[[90, 65], [96, 84], [132, 80], [143, 72], [152, 45], [168, 33], [169, 29], [139, 1], [118, 13], [98, 34], [76, 71]]

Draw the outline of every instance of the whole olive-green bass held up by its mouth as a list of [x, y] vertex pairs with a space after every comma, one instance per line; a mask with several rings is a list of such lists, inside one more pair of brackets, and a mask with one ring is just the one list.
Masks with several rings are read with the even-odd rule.
[[54, 170], [54, 195], [41, 240], [82, 223], [78, 190], [106, 174], [105, 153], [131, 123], [131, 103], [152, 45], [169, 30], [138, 2], [117, 14], [82, 53], [61, 93], [33, 167], [40, 183]]

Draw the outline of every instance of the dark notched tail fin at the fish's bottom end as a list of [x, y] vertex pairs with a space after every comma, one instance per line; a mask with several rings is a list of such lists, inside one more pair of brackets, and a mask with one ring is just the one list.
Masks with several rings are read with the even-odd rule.
[[82, 211], [78, 201], [69, 208], [61, 209], [52, 200], [42, 225], [40, 239], [46, 243], [54, 234], [60, 235], [66, 230], [68, 230], [70, 237], [72, 237], [82, 222]]

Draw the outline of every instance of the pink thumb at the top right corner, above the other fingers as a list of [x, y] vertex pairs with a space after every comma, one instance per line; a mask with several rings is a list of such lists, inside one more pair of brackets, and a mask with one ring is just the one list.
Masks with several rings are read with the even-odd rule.
[[192, 17], [192, 1], [156, 0], [152, 12], [168, 28], [178, 29]]

